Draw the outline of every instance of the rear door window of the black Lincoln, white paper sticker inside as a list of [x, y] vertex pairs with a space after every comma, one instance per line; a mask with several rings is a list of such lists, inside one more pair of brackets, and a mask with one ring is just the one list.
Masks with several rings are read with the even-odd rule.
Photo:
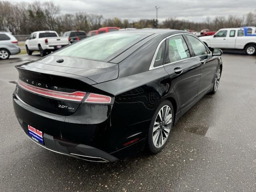
[[190, 58], [188, 46], [182, 37], [177, 35], [166, 40], [166, 58], [164, 64]]

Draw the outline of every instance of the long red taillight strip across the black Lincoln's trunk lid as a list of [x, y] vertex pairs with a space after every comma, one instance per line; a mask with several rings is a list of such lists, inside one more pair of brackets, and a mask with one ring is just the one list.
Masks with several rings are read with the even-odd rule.
[[56, 98], [56, 99], [63, 99], [63, 100], [68, 100], [68, 101], [82, 101], [84, 96], [86, 95], [85, 92], [72, 92], [72, 93], [67, 93], [67, 92], [60, 92], [60, 91], [54, 91], [54, 90], [49, 90], [49, 89], [44, 89], [40, 87], [36, 87], [30, 84], [27, 84], [25, 82], [22, 82], [21, 80], [18, 81], [18, 84], [21, 88], [24, 90], [27, 90], [29, 92], [42, 95], [42, 96], [47, 96], [51, 98]]

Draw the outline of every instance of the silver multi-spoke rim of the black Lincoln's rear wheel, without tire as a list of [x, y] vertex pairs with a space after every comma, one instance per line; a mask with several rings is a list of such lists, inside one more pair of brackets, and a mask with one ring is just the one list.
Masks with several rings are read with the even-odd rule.
[[153, 144], [160, 148], [166, 142], [172, 127], [172, 109], [170, 106], [163, 106], [156, 116], [153, 128]]

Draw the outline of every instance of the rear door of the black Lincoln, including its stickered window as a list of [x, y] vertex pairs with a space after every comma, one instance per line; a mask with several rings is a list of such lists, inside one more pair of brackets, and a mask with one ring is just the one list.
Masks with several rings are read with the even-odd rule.
[[170, 76], [180, 110], [187, 108], [198, 96], [200, 63], [181, 34], [166, 38], [164, 68]]

